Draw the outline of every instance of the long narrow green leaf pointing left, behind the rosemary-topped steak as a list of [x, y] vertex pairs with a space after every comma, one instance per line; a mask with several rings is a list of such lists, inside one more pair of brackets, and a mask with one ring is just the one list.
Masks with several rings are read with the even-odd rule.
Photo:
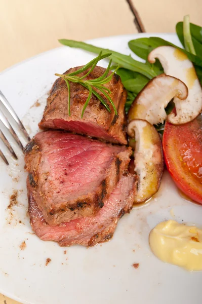
[[152, 79], [156, 76], [155, 72], [149, 68], [146, 64], [139, 62], [135, 59], [133, 59], [130, 55], [123, 55], [118, 52], [109, 51], [108, 49], [103, 49], [99, 47], [95, 47], [93, 45], [87, 44], [85, 42], [80, 41], [74, 41], [74, 40], [66, 40], [66, 39], [60, 39], [59, 42], [65, 46], [71, 47], [71, 48], [80, 48], [84, 49], [89, 52], [97, 53], [99, 54], [102, 51], [102, 54], [105, 53], [111, 53], [111, 56], [108, 58], [111, 58], [113, 62], [117, 63], [119, 66], [122, 66], [124, 68], [130, 69], [132, 71], [141, 73], [148, 77], [149, 79]]

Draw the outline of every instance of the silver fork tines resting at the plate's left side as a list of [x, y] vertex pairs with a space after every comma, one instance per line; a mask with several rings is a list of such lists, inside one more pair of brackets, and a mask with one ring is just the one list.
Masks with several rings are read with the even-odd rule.
[[[25, 130], [23, 124], [19, 120], [18, 116], [16, 115], [14, 109], [12, 108], [12, 106], [10, 105], [10, 103], [8, 102], [8, 100], [6, 99], [6, 97], [4, 96], [4, 94], [1, 91], [0, 91], [0, 122], [1, 122], [1, 125], [4, 126], [4, 129], [7, 130], [12, 135], [12, 137], [15, 139], [18, 146], [23, 150], [23, 145], [22, 145], [19, 137], [17, 136], [16, 132], [14, 131], [12, 125], [15, 124], [17, 126], [18, 131], [20, 131], [20, 133], [23, 135], [26, 142], [28, 142], [30, 140], [30, 137], [29, 137], [27, 131]], [[0, 138], [2, 139], [4, 144], [9, 149], [13, 158], [17, 160], [18, 159], [17, 155], [15, 154], [15, 151], [13, 150], [11, 144], [9, 143], [9, 141], [7, 139], [5, 132], [2, 129], [0, 129]], [[1, 149], [0, 149], [0, 157], [3, 159], [3, 161], [7, 165], [9, 165], [9, 162], [6, 159], [6, 157], [3, 154]]]

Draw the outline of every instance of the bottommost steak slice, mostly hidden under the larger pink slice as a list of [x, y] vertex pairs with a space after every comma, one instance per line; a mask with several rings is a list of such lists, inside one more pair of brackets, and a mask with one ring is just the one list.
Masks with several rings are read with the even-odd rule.
[[41, 240], [55, 241], [60, 246], [94, 246], [110, 240], [118, 219], [130, 212], [136, 193], [136, 182], [131, 174], [123, 176], [95, 217], [74, 219], [55, 227], [45, 221], [38, 209], [29, 182], [27, 188], [30, 223], [32, 230]]

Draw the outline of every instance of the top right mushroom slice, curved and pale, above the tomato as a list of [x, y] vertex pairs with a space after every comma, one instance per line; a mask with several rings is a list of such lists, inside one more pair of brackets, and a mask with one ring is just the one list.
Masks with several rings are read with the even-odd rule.
[[180, 79], [188, 88], [185, 100], [174, 98], [176, 115], [171, 113], [168, 116], [169, 122], [181, 125], [192, 121], [202, 110], [202, 89], [192, 62], [182, 51], [170, 46], [158, 47], [151, 51], [148, 61], [154, 63], [155, 58], [159, 59], [166, 74]]

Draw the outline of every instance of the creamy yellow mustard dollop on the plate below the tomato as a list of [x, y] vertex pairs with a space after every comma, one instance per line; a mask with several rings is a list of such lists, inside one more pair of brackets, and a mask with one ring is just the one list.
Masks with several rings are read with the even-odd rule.
[[175, 220], [161, 222], [149, 235], [152, 252], [189, 271], [202, 270], [202, 230]]

